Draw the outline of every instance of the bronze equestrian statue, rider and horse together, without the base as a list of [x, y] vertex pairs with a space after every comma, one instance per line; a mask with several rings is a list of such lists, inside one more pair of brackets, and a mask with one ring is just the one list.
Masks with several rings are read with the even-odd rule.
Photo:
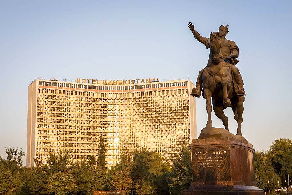
[[224, 115], [223, 110], [231, 107], [234, 112], [234, 119], [237, 121], [237, 135], [241, 134], [241, 123], [244, 102], [244, 89], [241, 74], [235, 65], [239, 54], [238, 46], [234, 41], [225, 38], [228, 33], [228, 25], [221, 25], [219, 32], [210, 34], [210, 38], [200, 36], [195, 31], [192, 22], [188, 27], [194, 34], [194, 37], [206, 48], [210, 48], [209, 61], [207, 66], [199, 72], [196, 82], [196, 88], [192, 90], [191, 95], [201, 96], [206, 99], [206, 108], [208, 112], [208, 121], [206, 128], [212, 128], [211, 120], [211, 97], [214, 112], [221, 119], [226, 130], [228, 130], [228, 118]]

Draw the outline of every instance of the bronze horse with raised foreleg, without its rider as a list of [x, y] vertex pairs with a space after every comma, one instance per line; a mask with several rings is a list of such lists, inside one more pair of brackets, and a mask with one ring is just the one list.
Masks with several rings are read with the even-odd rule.
[[228, 118], [224, 114], [224, 109], [231, 107], [236, 120], [237, 134], [241, 135], [241, 123], [243, 113], [244, 96], [238, 96], [235, 92], [234, 76], [230, 70], [230, 63], [226, 63], [220, 55], [220, 39], [218, 32], [210, 34], [210, 50], [213, 55], [212, 62], [204, 68], [202, 73], [203, 97], [206, 99], [206, 109], [208, 121], [206, 128], [212, 128], [211, 120], [211, 97], [213, 109], [216, 116], [221, 119], [226, 130], [228, 130]]

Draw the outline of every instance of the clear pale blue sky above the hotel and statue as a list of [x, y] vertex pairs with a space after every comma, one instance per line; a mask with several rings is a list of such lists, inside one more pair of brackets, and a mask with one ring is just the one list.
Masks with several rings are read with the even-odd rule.
[[[256, 150], [291, 138], [292, 1], [1, 1], [0, 155], [27, 140], [27, 86], [36, 77], [193, 82], [206, 66], [202, 36], [229, 24], [245, 84], [242, 133]], [[197, 132], [207, 120], [196, 99]], [[231, 109], [230, 131], [236, 133]], [[213, 126], [223, 127], [212, 114]], [[25, 162], [25, 159], [24, 159]]]

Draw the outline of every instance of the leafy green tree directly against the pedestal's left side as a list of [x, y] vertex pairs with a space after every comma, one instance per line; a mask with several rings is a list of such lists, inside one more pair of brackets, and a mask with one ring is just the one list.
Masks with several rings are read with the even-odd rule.
[[182, 194], [192, 182], [191, 150], [183, 147], [179, 156], [172, 160], [171, 174], [168, 177], [171, 194]]

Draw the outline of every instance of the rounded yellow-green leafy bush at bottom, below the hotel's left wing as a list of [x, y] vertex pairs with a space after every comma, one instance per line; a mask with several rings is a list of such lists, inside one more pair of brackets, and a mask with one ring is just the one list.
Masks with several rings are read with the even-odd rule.
[[75, 178], [69, 171], [53, 173], [48, 178], [47, 192], [49, 194], [72, 194], [73, 190], [77, 188]]

